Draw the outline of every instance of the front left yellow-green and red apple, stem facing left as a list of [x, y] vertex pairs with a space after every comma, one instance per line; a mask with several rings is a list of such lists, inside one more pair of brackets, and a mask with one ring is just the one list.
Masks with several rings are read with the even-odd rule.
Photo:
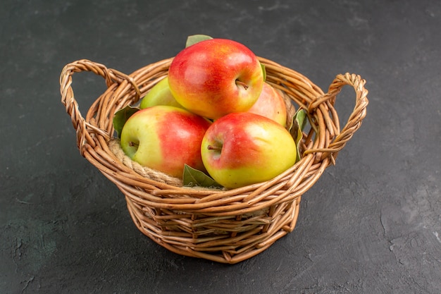
[[133, 161], [182, 178], [184, 165], [204, 171], [201, 141], [211, 122], [175, 106], [141, 109], [125, 122], [120, 136]]

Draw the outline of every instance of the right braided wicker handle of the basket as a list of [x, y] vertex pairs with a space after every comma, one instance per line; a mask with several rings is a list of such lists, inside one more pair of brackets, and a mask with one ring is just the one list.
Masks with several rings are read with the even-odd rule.
[[[366, 116], [366, 107], [368, 106], [368, 90], [364, 87], [366, 84], [366, 80], [361, 79], [360, 75], [345, 73], [344, 75], [339, 74], [335, 77], [331, 85], [329, 86], [328, 92], [321, 97], [315, 99], [309, 105], [309, 112], [311, 113], [314, 109], [321, 109], [324, 107], [325, 102], [331, 102], [332, 104], [335, 102], [335, 98], [337, 94], [340, 93], [342, 87], [345, 85], [349, 85], [354, 87], [356, 100], [354, 110], [352, 114], [349, 116], [346, 125], [341, 130], [340, 133], [335, 135], [334, 139], [328, 147], [320, 148], [320, 149], [308, 149], [304, 152], [304, 154], [309, 154], [313, 152], [323, 152], [321, 154], [321, 159], [325, 157], [330, 157], [330, 160], [333, 164], [335, 164], [335, 158], [337, 157], [338, 152], [346, 145], [346, 142], [351, 139], [352, 135], [358, 130], [361, 126], [361, 122]], [[324, 109], [321, 111], [324, 114]], [[337, 117], [337, 114], [333, 114]], [[328, 124], [328, 121], [325, 119], [325, 123]], [[338, 123], [338, 119], [336, 121]], [[333, 129], [329, 128], [328, 129]], [[337, 127], [338, 129], [338, 127]], [[323, 132], [324, 133], [324, 132]]]

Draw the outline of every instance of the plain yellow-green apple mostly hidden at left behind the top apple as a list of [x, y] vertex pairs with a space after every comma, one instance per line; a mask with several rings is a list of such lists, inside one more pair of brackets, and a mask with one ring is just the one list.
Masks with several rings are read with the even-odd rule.
[[144, 109], [156, 105], [168, 105], [182, 108], [168, 87], [168, 77], [163, 78], [154, 85], [149, 92], [142, 98], [139, 104], [140, 109]]

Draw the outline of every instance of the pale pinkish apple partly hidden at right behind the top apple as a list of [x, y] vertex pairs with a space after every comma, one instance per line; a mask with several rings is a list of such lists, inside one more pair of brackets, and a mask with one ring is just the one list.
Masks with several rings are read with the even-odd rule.
[[286, 126], [287, 111], [285, 100], [268, 82], [263, 84], [262, 92], [256, 103], [247, 111], [252, 114], [260, 114], [273, 121]]

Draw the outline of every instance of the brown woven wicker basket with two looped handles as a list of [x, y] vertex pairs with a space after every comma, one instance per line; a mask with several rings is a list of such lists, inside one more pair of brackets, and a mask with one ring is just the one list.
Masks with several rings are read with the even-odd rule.
[[[113, 114], [136, 104], [164, 78], [173, 58], [130, 75], [87, 60], [63, 68], [61, 101], [72, 119], [80, 153], [123, 192], [137, 228], [172, 252], [235, 264], [266, 250], [294, 229], [302, 195], [327, 166], [335, 164], [338, 152], [366, 116], [368, 91], [359, 75], [337, 75], [324, 93], [304, 75], [259, 59], [266, 66], [267, 82], [297, 109], [305, 109], [309, 124], [303, 132], [302, 159], [297, 164], [272, 180], [233, 190], [187, 188], [161, 174], [142, 174], [124, 164], [108, 146], [114, 137]], [[85, 117], [78, 110], [71, 85], [73, 73], [82, 71], [101, 75], [107, 85]], [[340, 130], [334, 104], [344, 85], [354, 87], [356, 101]]]

